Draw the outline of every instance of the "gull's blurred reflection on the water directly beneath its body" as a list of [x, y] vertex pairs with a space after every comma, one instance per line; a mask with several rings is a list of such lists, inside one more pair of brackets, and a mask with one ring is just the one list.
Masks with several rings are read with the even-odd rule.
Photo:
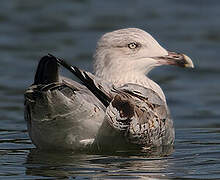
[[148, 151], [44, 152], [31, 149], [26, 175], [56, 179], [166, 177], [173, 146]]

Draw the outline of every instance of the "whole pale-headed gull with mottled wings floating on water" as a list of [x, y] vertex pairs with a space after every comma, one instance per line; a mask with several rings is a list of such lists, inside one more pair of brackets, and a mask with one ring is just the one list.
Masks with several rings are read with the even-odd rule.
[[[193, 68], [191, 59], [169, 52], [147, 32], [120, 29], [103, 35], [94, 55], [95, 75], [52, 55], [39, 62], [25, 92], [25, 119], [42, 149], [172, 145], [175, 135], [166, 98], [147, 74], [160, 65]], [[58, 64], [81, 83], [62, 77]]]

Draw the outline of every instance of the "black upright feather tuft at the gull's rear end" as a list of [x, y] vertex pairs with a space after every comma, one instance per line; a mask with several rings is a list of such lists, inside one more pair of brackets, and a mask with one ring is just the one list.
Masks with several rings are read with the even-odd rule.
[[41, 58], [34, 78], [34, 85], [50, 84], [59, 81], [58, 63], [55, 57], [47, 55]]

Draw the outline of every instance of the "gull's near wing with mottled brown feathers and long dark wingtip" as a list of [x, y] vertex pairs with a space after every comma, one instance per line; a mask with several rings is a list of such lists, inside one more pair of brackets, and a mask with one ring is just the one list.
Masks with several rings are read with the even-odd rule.
[[174, 143], [173, 121], [166, 102], [153, 90], [137, 84], [122, 87], [106, 86], [106, 82], [92, 74], [68, 65], [69, 69], [105, 105], [105, 117], [93, 147], [121, 149], [138, 146], [151, 147]]

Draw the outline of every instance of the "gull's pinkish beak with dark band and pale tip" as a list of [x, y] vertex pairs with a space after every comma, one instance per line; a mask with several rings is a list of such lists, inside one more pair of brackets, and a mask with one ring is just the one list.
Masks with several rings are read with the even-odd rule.
[[185, 54], [168, 52], [168, 55], [158, 57], [160, 65], [175, 65], [179, 67], [194, 68], [192, 60]]

